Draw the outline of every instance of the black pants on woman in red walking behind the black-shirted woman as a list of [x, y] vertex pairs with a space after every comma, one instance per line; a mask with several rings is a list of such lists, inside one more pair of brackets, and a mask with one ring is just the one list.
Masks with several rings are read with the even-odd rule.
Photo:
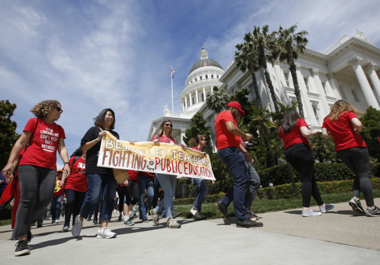
[[81, 211], [82, 204], [85, 201], [86, 192], [78, 191], [75, 189], [65, 189], [66, 207], [65, 207], [65, 224], [70, 225], [70, 218], [73, 215], [72, 225], [74, 225], [75, 218]]

